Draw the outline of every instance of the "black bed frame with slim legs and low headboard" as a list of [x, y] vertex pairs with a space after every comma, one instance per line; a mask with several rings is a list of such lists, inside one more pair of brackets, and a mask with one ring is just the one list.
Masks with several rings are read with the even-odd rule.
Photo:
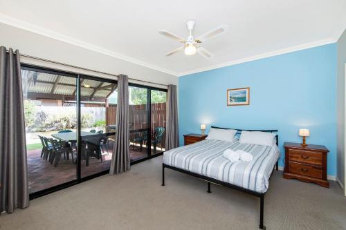
[[[215, 127], [215, 126], [212, 126], [212, 128], [220, 128], [220, 127]], [[237, 134], [241, 133], [242, 131], [261, 131], [261, 132], [266, 132], [266, 133], [277, 133], [277, 130], [273, 129], [273, 130], [249, 130], [249, 129], [236, 129], [236, 128], [220, 128], [220, 129], [235, 129], [237, 130]], [[276, 137], [276, 144], [278, 145], [279, 143], [279, 137], [278, 135], [275, 135]], [[279, 165], [278, 165], [278, 161], [276, 162], [275, 164], [275, 169], [276, 171], [278, 170], [279, 168]], [[200, 178], [202, 180], [206, 180], [208, 182], [208, 193], [211, 193], [211, 190], [210, 190], [210, 185], [211, 183], [213, 184], [219, 184], [221, 186], [226, 186], [228, 188], [231, 188], [231, 189], [236, 189], [238, 191], [242, 191], [244, 193], [248, 193], [248, 194], [251, 194], [251, 195], [255, 195], [257, 196], [257, 198], [260, 198], [260, 229], [266, 229], [266, 227], [264, 226], [263, 224], [263, 219], [264, 219], [264, 195], [266, 193], [259, 193], [257, 191], [253, 191], [251, 189], [245, 189], [243, 188], [242, 186], [237, 186], [235, 184], [230, 184], [230, 183], [227, 183], [227, 182], [223, 182], [221, 180], [216, 180], [214, 178], [209, 178], [209, 177], [206, 177], [205, 175], [200, 175], [198, 173], [192, 173], [190, 171], [187, 171], [187, 170], [184, 170], [184, 169], [179, 169], [179, 168], [176, 168], [174, 166], [170, 166], [170, 165], [167, 165], [167, 164], [162, 164], [162, 186], [165, 186], [165, 168], [167, 169], [172, 169], [172, 170], [175, 170], [175, 171], [179, 171], [181, 173], [185, 173], [185, 174], [188, 174], [188, 175], [192, 175], [196, 178]], [[273, 169], [274, 171], [274, 169]], [[273, 171], [271, 172], [271, 175], [273, 175]], [[269, 178], [270, 180], [271, 178]]]

